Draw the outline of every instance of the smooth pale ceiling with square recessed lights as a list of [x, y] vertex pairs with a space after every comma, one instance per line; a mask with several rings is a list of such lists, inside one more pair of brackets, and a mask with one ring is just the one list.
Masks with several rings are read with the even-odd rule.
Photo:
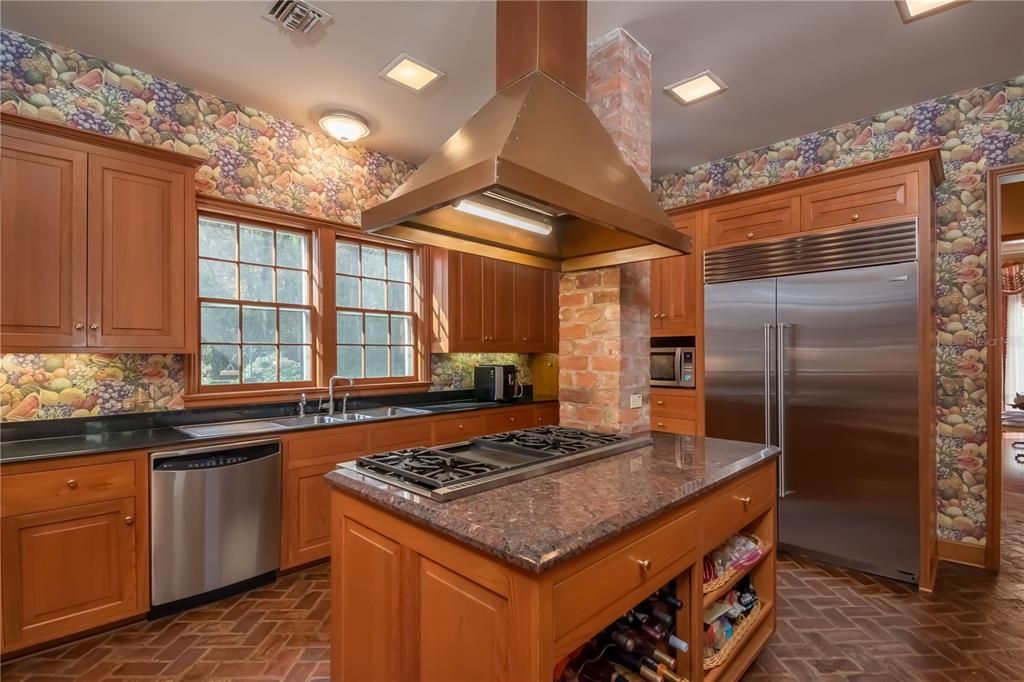
[[[6, 28], [315, 125], [365, 116], [367, 144], [420, 162], [494, 92], [493, 2], [318, 2], [309, 36], [263, 2], [4, 0]], [[591, 37], [623, 27], [654, 55], [653, 171], [1024, 74], [1024, 2], [976, 0], [904, 25], [895, 2], [591, 2]], [[406, 51], [446, 72], [416, 94], [377, 73]], [[712, 69], [728, 85], [688, 108], [660, 92]]]

